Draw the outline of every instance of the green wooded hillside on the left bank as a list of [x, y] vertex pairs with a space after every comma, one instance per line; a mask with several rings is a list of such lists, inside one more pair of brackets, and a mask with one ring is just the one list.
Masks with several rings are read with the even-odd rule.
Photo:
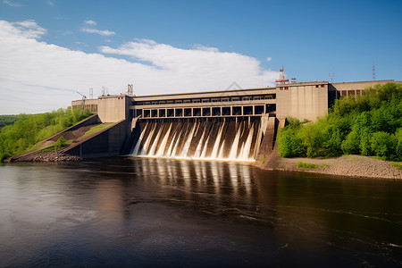
[[34, 149], [39, 141], [71, 127], [90, 115], [88, 110], [71, 111], [70, 107], [51, 113], [18, 115], [13, 124], [0, 129], [0, 161]]

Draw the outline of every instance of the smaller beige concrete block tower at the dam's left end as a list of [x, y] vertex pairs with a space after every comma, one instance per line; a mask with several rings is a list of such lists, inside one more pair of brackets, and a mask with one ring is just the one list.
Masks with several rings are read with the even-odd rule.
[[129, 117], [130, 96], [99, 96], [97, 114], [102, 122], [116, 122]]

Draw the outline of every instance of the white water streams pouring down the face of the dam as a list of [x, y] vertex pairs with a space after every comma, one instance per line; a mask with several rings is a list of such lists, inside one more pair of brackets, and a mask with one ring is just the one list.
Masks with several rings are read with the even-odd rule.
[[[179, 122], [176, 122], [176, 125], [174, 125], [174, 122], [144, 123], [144, 130], [139, 134], [138, 141], [133, 146], [131, 155], [237, 161], [254, 160], [254, 155], [250, 156], [250, 152], [254, 146], [252, 140], [255, 127], [259, 127], [258, 123], [247, 124], [239, 122], [234, 129], [233, 124], [230, 131], [231, 133], [235, 131], [235, 134], [231, 134], [231, 141], [226, 137], [226, 131], [229, 131], [228, 122], [209, 121], [204, 125], [193, 122], [189, 123], [190, 125], [181, 123], [179, 126], [177, 123]], [[201, 127], [204, 127], [205, 130], [202, 132], [197, 145], [194, 145], [192, 139], [195, 138], [195, 135], [199, 138], [199, 134], [201, 133], [198, 133], [198, 129]], [[212, 128], [215, 130], [211, 130]], [[148, 133], [147, 135], [145, 135], [146, 132]], [[155, 138], [153, 139], [153, 137]], [[210, 144], [210, 141], [212, 141], [211, 138], [214, 140], [212, 144]], [[231, 144], [230, 150], [225, 149], [227, 144]], [[197, 146], [195, 150], [191, 151], [192, 153], [190, 153], [191, 145], [194, 147]], [[209, 149], [208, 146], [210, 147]], [[168, 149], [166, 150], [166, 148]], [[225, 155], [224, 151], [229, 153]]]

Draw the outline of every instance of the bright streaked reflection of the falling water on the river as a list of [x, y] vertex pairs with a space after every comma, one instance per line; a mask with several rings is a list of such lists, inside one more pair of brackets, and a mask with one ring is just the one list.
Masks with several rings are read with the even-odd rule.
[[217, 210], [260, 202], [252, 176], [254, 167], [248, 164], [139, 158], [133, 162], [133, 169], [141, 171], [136, 180], [144, 185], [155, 183], [168, 200], [173, 200], [171, 195], [180, 202], [197, 198], [193, 202], [197, 210], [204, 210], [207, 200], [214, 201]]

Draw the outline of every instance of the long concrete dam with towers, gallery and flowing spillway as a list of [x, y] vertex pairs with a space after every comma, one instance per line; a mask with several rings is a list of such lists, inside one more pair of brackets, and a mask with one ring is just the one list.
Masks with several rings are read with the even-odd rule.
[[[278, 80], [277, 80], [278, 81]], [[394, 80], [349, 83], [277, 82], [275, 87], [130, 96], [99, 96], [71, 102], [101, 122], [113, 122], [104, 138], [70, 150], [83, 158], [147, 155], [191, 159], [254, 161], [272, 151], [286, 117], [316, 121], [341, 96]], [[107, 139], [107, 141], [105, 141]], [[99, 147], [103, 147], [100, 149]], [[94, 153], [95, 152], [95, 153]]]

